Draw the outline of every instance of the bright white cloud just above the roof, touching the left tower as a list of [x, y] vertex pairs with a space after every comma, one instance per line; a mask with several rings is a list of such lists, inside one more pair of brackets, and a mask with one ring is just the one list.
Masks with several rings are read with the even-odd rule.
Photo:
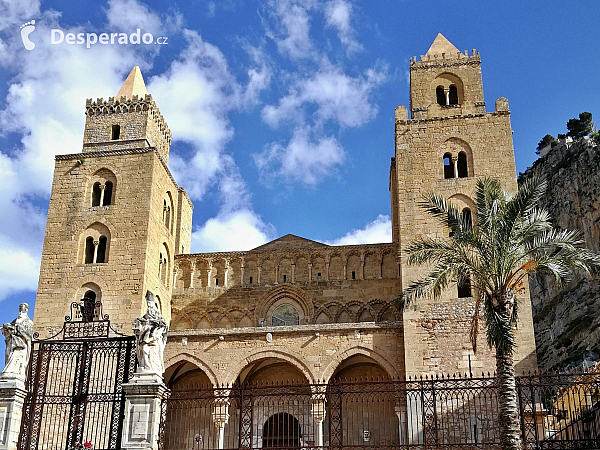
[[208, 220], [192, 233], [193, 252], [250, 250], [273, 239], [275, 229], [251, 210], [239, 209]]

